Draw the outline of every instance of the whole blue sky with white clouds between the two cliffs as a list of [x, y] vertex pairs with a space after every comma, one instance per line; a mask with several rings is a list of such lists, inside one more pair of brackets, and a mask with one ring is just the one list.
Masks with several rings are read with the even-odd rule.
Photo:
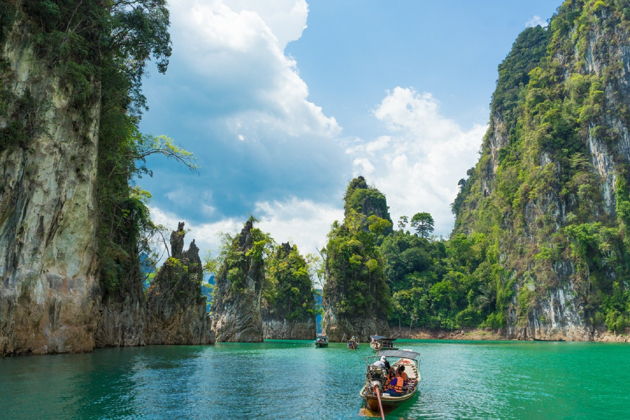
[[192, 151], [153, 159], [154, 218], [202, 251], [253, 214], [305, 252], [325, 243], [363, 174], [392, 216], [447, 236], [478, 157], [497, 66], [555, 1], [174, 0], [169, 71], [147, 77], [142, 130]]

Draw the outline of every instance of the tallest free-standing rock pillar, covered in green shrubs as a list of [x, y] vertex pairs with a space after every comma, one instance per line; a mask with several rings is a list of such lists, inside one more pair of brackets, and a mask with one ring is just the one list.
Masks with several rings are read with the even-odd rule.
[[345, 218], [324, 249], [323, 328], [331, 341], [388, 334], [390, 294], [378, 244], [392, 230], [385, 196], [363, 177], [350, 181]]

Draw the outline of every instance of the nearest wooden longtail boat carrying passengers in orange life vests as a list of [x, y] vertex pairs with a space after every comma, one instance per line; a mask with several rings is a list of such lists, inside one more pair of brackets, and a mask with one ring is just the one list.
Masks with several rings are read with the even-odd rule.
[[[390, 363], [393, 372], [400, 366], [404, 366], [407, 379], [404, 381], [401, 392], [395, 392], [388, 386], [388, 372], [384, 363], [372, 363], [381, 356]], [[409, 401], [418, 392], [420, 385], [419, 353], [410, 350], [383, 350], [375, 356], [367, 358], [367, 373], [365, 385], [359, 395], [365, 400], [366, 406], [385, 418], [384, 408], [394, 408], [405, 401]]]

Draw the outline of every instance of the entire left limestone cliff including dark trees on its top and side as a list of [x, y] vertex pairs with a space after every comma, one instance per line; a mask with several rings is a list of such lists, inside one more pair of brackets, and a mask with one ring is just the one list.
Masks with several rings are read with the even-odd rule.
[[164, 2], [132, 3], [0, 0], [2, 356], [145, 344], [151, 222], [129, 180], [170, 37]]

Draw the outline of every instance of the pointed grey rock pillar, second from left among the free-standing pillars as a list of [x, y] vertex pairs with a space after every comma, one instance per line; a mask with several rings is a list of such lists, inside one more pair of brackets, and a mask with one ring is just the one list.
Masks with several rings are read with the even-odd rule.
[[215, 277], [212, 330], [217, 341], [263, 340], [260, 301], [265, 269], [260, 235], [248, 220]]

